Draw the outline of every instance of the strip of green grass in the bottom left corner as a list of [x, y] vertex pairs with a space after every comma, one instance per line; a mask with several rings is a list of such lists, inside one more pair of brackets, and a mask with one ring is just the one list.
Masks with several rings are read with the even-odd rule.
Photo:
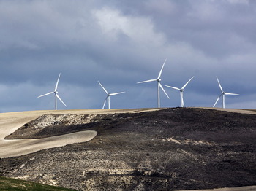
[[[0, 190], [46, 190], [46, 191], [59, 191], [59, 190], [67, 190], [72, 191], [63, 187], [53, 187], [46, 184], [38, 184], [35, 182], [28, 182], [19, 179], [10, 179], [3, 176], [0, 176]], [[74, 191], [74, 190], [73, 190]]]

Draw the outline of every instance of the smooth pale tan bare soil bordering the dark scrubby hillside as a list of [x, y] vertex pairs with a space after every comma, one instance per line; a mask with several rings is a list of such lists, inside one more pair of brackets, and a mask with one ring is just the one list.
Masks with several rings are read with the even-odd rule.
[[[217, 109], [226, 112], [236, 112], [242, 114], [256, 114], [256, 110], [246, 109], [221, 109], [221, 108], [203, 108]], [[93, 139], [97, 132], [93, 130], [81, 131], [78, 133], [69, 133], [63, 136], [53, 136], [45, 139], [23, 139], [23, 140], [4, 140], [4, 137], [14, 132], [25, 123], [36, 119], [42, 114], [108, 114], [122, 112], [150, 112], [158, 109], [87, 109], [87, 110], [45, 110], [31, 112], [12, 112], [0, 114], [0, 157], [13, 157], [26, 155], [41, 149], [52, 147], [61, 147], [76, 142], [84, 142]], [[201, 191], [252, 191], [256, 190], [256, 186], [252, 187], [234, 187], [219, 188]], [[185, 191], [185, 190], [183, 190]], [[193, 190], [190, 190], [193, 191]], [[195, 191], [195, 190], [194, 190]], [[198, 191], [198, 190], [197, 190]]]

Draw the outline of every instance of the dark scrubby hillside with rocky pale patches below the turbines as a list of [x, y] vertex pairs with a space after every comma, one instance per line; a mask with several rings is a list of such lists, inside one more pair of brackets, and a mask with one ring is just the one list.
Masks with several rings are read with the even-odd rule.
[[256, 185], [255, 124], [255, 114], [213, 109], [48, 114], [26, 123], [7, 139], [45, 138], [81, 130], [96, 130], [97, 136], [86, 143], [2, 158], [0, 175], [75, 190]]

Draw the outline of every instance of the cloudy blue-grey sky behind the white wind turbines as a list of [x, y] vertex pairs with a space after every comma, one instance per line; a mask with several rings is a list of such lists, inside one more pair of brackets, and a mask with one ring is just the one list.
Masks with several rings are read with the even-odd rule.
[[[254, 0], [0, 0], [0, 112], [157, 107], [156, 79], [185, 106], [256, 108]], [[165, 87], [161, 107], [180, 106]], [[219, 100], [217, 107], [222, 106]], [[106, 105], [107, 106], [107, 105]]]

